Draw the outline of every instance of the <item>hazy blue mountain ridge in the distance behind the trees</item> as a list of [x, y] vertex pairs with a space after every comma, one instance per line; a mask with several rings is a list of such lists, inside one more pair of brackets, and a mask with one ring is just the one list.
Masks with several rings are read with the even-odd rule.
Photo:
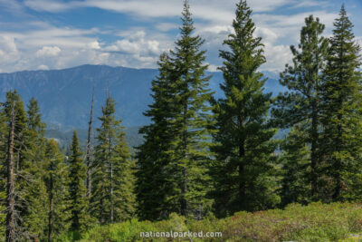
[[[210, 74], [213, 75], [210, 88], [215, 92], [216, 98], [221, 97], [219, 84], [223, 82], [223, 75]], [[5, 101], [5, 92], [17, 90], [25, 103], [31, 97], [38, 100], [43, 121], [49, 127], [62, 130], [72, 127], [86, 128], [91, 90], [94, 86], [95, 117], [100, 117], [101, 106], [110, 92], [117, 102], [116, 113], [123, 120], [123, 125], [142, 126], [148, 123], [148, 118], [142, 112], [146, 111], [148, 104], [152, 102], [150, 88], [156, 75], [156, 69], [90, 64], [62, 70], [0, 73], [0, 102]], [[271, 78], [265, 84], [265, 92], [275, 94], [282, 90], [275, 79]]]

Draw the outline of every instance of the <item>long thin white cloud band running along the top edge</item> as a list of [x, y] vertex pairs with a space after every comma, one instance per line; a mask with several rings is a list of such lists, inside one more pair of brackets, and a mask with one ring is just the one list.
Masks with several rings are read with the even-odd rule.
[[[233, 18], [237, 0], [197, 0], [191, 1], [196, 18], [214, 22], [229, 22]], [[252, 0], [249, 1], [254, 12], [270, 12], [282, 5], [289, 5], [295, 0]], [[59, 13], [80, 7], [97, 7], [100, 9], [137, 15], [141, 17], [175, 17], [179, 16], [182, 1], [179, 0], [84, 0], [62, 2], [55, 0], [26, 0], [24, 4], [36, 11]]]

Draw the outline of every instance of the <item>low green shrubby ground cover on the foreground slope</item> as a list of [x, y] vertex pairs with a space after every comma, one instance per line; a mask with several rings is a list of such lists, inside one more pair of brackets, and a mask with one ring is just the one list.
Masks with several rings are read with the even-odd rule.
[[[141, 238], [141, 231], [209, 231], [223, 233], [223, 237]], [[238, 212], [224, 219], [205, 218], [186, 220], [172, 214], [159, 222], [132, 219], [124, 223], [94, 227], [82, 235], [81, 242], [131, 241], [362, 241], [362, 205], [351, 203], [309, 206], [290, 205], [285, 209], [271, 209], [254, 213]], [[74, 241], [64, 235], [58, 241]]]

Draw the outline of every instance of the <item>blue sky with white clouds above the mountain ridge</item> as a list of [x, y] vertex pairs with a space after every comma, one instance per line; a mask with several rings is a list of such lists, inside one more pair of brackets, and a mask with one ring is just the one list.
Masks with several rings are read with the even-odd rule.
[[[237, 0], [190, 0], [196, 34], [205, 38], [207, 62], [216, 70], [218, 50], [232, 31]], [[0, 73], [49, 70], [85, 63], [155, 68], [178, 37], [182, 0], [0, 0]], [[344, 3], [362, 45], [362, 0], [249, 0], [255, 34], [262, 36], [264, 71], [291, 62], [308, 15], [329, 36]]]

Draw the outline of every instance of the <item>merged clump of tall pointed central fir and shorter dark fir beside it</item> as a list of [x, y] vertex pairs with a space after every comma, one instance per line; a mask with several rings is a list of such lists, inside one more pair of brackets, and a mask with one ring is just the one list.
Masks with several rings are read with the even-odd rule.
[[160, 56], [159, 75], [152, 82], [154, 102], [145, 113], [152, 123], [141, 130], [138, 149], [140, 217], [167, 218], [172, 212], [202, 218], [211, 208], [208, 166], [211, 98], [204, 40], [194, 36], [188, 2], [184, 3], [176, 48]]

